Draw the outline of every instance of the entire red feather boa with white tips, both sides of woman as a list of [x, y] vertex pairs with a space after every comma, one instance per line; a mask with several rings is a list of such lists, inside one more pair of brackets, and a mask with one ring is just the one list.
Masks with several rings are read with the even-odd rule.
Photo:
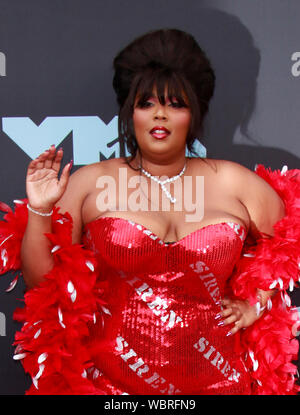
[[[285, 203], [286, 214], [274, 226], [274, 236], [260, 235], [255, 244], [246, 240], [242, 256], [231, 278], [238, 298], [257, 301], [256, 290], [277, 288], [278, 293], [251, 327], [242, 331], [239, 347], [253, 380], [253, 394], [296, 394], [300, 325], [296, 308], [286, 293], [298, 283], [300, 266], [300, 170], [271, 171], [259, 165], [256, 173], [266, 180]], [[7, 212], [0, 222], [0, 273], [20, 269], [20, 248], [27, 223], [26, 200], [15, 201], [15, 211], [1, 203]], [[99, 264], [94, 253], [72, 245], [72, 219], [57, 209], [53, 214], [55, 265], [44, 281], [25, 293], [25, 307], [14, 317], [23, 322], [15, 336], [15, 359], [32, 378], [27, 394], [109, 394], [93, 382], [91, 329], [96, 321], [109, 318], [101, 300], [105, 290], [97, 279]], [[101, 264], [100, 264], [101, 265]], [[109, 306], [108, 306], [109, 307]], [[105, 324], [105, 323], [104, 323]], [[238, 339], [238, 336], [237, 336]]]

